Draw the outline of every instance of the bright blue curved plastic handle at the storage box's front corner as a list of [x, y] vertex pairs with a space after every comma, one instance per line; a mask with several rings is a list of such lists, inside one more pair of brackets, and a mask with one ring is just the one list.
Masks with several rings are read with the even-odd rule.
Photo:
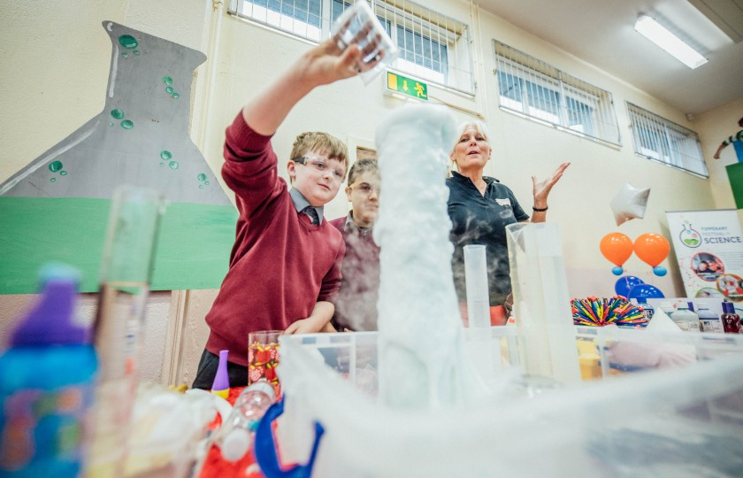
[[318, 456], [318, 447], [320, 438], [325, 433], [325, 428], [318, 421], [315, 422], [315, 441], [312, 443], [310, 459], [305, 465], [295, 465], [286, 470], [281, 469], [279, 455], [276, 453], [276, 446], [273, 439], [272, 423], [284, 412], [284, 397], [266, 410], [263, 418], [258, 423], [256, 430], [255, 451], [258, 466], [266, 478], [309, 478], [312, 474], [312, 466], [315, 465], [315, 459]]

